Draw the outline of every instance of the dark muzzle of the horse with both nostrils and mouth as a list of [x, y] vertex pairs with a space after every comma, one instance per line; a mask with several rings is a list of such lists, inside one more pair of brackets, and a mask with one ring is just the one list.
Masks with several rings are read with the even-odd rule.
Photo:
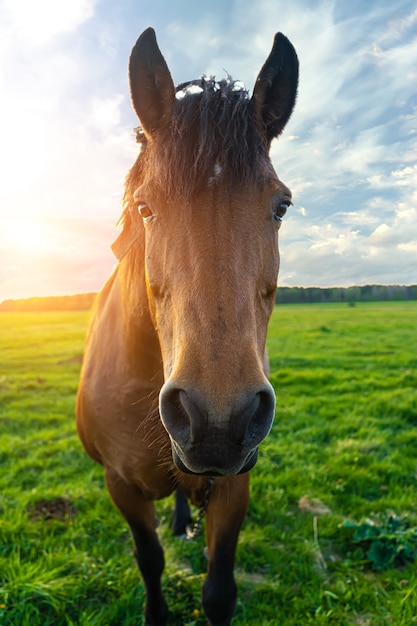
[[195, 388], [169, 381], [161, 389], [159, 404], [178, 469], [227, 476], [255, 465], [258, 445], [274, 419], [275, 394], [265, 382], [219, 406]]

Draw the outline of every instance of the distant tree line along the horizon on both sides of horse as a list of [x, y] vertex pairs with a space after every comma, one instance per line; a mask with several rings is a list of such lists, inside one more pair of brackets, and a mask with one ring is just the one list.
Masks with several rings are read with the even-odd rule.
[[[4, 300], [0, 311], [88, 311], [96, 293]], [[362, 285], [356, 287], [279, 287], [277, 304], [321, 302], [387, 302], [417, 300], [417, 285]]]

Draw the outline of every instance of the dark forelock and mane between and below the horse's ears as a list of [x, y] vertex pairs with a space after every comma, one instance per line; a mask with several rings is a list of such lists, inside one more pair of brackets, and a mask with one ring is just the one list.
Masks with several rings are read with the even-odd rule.
[[248, 91], [230, 76], [178, 85], [167, 126], [151, 141], [141, 127], [135, 130], [141, 151], [126, 177], [123, 223], [139, 185], [151, 183], [165, 196], [187, 202], [219, 180], [229, 193], [236, 185], [259, 183], [269, 161]]

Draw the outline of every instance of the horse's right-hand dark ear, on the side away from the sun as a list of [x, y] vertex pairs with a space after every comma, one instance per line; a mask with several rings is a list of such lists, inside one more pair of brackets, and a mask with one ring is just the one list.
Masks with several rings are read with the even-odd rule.
[[271, 53], [259, 72], [252, 104], [268, 143], [284, 130], [295, 105], [298, 58], [290, 41], [277, 33]]

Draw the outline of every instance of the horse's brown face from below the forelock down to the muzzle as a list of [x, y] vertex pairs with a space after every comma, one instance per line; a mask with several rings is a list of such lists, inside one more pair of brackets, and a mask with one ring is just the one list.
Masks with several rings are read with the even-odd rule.
[[141, 200], [166, 381], [160, 413], [184, 471], [249, 469], [271, 427], [275, 397], [263, 360], [279, 265], [273, 207], [284, 197], [275, 179], [231, 203], [220, 189], [190, 206]]

